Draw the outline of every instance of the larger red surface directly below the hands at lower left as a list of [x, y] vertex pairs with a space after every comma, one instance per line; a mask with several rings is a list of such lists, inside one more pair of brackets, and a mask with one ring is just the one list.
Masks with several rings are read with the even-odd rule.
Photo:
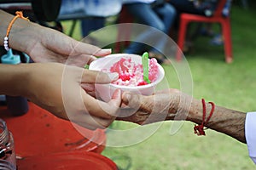
[[23, 116], [10, 116], [6, 107], [0, 107], [0, 113], [14, 135], [17, 156], [47, 156], [69, 150], [101, 153], [105, 148], [104, 130], [90, 131], [79, 127], [78, 132], [73, 123], [61, 120], [32, 103]]

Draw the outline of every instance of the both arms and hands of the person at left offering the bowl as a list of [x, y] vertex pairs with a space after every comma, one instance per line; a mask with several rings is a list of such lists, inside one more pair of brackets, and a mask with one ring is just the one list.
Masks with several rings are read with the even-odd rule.
[[[16, 14], [0, 10], [0, 39], [4, 40], [0, 45], [24, 52], [39, 63], [0, 64], [0, 94], [24, 96], [55, 116], [86, 128], [108, 127], [119, 109], [120, 91], [105, 103], [95, 98], [94, 85], [112, 82], [119, 76], [83, 67], [111, 50], [78, 42], [60, 31], [25, 20], [22, 13]], [[5, 36], [7, 30], [9, 36]]]

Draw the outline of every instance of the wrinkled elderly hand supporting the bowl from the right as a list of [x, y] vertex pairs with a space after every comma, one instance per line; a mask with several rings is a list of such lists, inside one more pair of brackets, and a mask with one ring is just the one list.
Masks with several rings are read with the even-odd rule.
[[117, 120], [148, 124], [174, 119], [180, 102], [181, 93], [177, 89], [166, 89], [150, 96], [130, 94], [122, 95], [122, 109]]

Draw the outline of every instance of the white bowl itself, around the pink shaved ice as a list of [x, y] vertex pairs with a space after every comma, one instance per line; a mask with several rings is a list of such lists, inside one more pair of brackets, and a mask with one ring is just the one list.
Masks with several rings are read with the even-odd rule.
[[[142, 64], [142, 56], [137, 54], [110, 54], [103, 58], [99, 58], [90, 63], [89, 69], [94, 71], [102, 71], [102, 69], [109, 69], [114, 63], [118, 62], [121, 58], [129, 57], [131, 58], [131, 62], [135, 62], [136, 64]], [[154, 88], [156, 85], [162, 81], [165, 77], [165, 71], [161, 65], [158, 64], [158, 75], [157, 79], [154, 82], [151, 82], [147, 85], [142, 86], [121, 86], [113, 83], [109, 84], [96, 84], [96, 97], [100, 97], [102, 100], [108, 102], [114, 90], [117, 88], [121, 89], [122, 92], [129, 91], [131, 93], [150, 95], [154, 93]]]

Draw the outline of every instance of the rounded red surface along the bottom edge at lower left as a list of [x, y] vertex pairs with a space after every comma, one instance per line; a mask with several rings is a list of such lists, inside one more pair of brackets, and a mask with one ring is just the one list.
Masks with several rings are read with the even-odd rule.
[[94, 152], [64, 152], [17, 161], [19, 170], [118, 170], [113, 161]]

